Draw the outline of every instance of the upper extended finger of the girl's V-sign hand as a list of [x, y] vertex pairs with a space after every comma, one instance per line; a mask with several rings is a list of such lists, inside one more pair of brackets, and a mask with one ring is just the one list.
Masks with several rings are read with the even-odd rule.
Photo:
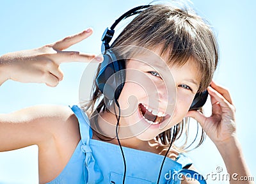
[[74, 34], [72, 36], [67, 36], [66, 38], [63, 38], [62, 40], [59, 40], [56, 43], [52, 44], [52, 48], [55, 50], [64, 50], [70, 47], [71, 45], [74, 45], [78, 42], [81, 42], [85, 38], [88, 38], [92, 34], [92, 28], [88, 28], [81, 33]]

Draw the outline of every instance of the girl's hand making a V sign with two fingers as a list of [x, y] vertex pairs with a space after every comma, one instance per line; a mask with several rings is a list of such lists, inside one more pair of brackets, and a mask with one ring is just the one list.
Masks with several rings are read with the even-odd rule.
[[54, 87], [63, 79], [63, 72], [59, 67], [61, 63], [89, 62], [92, 59], [102, 61], [102, 56], [95, 58], [95, 54], [63, 51], [71, 45], [81, 42], [91, 34], [92, 29], [88, 28], [81, 33], [68, 36], [63, 40], [38, 49], [4, 54], [0, 57], [0, 75], [2, 75], [0, 76], [2, 79], [0, 85], [1, 81], [12, 79], [19, 82], [45, 83], [47, 86]]

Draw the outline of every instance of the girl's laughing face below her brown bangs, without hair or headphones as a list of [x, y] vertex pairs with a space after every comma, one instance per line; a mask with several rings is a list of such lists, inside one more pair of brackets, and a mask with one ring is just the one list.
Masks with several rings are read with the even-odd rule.
[[192, 59], [183, 66], [168, 66], [165, 57], [157, 57], [145, 54], [127, 61], [118, 98], [120, 126], [129, 127], [132, 135], [143, 141], [182, 121], [200, 84]]

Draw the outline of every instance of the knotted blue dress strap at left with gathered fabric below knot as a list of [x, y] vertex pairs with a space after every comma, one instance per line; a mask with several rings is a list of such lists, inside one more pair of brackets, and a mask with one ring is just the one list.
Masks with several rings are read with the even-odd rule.
[[77, 105], [71, 107], [72, 111], [76, 114], [79, 121], [81, 141], [81, 151], [85, 154], [84, 160], [84, 180], [85, 183], [99, 183], [102, 179], [102, 173], [92, 155], [90, 148], [90, 139], [92, 138], [92, 128], [90, 128], [90, 121], [88, 116]]

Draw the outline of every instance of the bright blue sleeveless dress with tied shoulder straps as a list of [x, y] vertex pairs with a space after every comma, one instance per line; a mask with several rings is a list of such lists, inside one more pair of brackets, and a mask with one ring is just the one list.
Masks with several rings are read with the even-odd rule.
[[[71, 109], [79, 121], [81, 141], [63, 171], [49, 184], [122, 183], [124, 162], [120, 147], [92, 139], [92, 128], [86, 114], [77, 105]], [[156, 183], [164, 156], [124, 146], [122, 148], [127, 167], [125, 183]], [[206, 183], [195, 171], [182, 169], [191, 164], [191, 160], [183, 154], [180, 154], [177, 160], [166, 157], [159, 183], [180, 183], [182, 174], [196, 178], [202, 184]]]

